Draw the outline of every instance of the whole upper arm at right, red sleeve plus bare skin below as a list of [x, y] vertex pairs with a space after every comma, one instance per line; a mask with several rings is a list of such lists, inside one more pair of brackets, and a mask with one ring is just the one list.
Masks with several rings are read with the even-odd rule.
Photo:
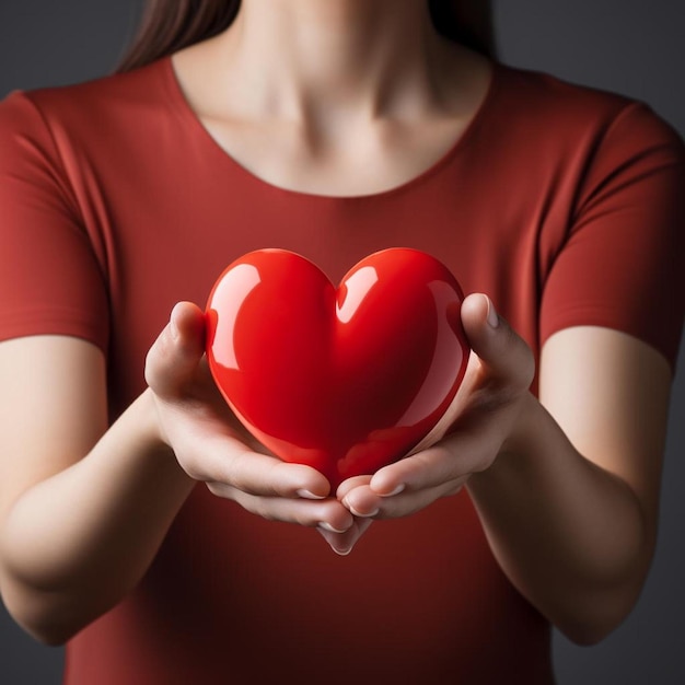
[[685, 311], [685, 148], [631, 104], [603, 132], [544, 283], [539, 399], [655, 530]]

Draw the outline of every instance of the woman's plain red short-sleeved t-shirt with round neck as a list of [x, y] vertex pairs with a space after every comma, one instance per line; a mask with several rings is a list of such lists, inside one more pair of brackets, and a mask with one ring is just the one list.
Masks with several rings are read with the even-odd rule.
[[[266, 141], [265, 141], [266, 142]], [[337, 281], [388, 246], [490, 294], [537, 355], [600, 325], [673, 362], [685, 161], [645, 105], [498, 66], [451, 150], [392, 190], [277, 188], [197, 119], [169, 58], [0, 104], [0, 339], [105, 350], [116, 417], [178, 300], [260, 247]], [[153, 494], [151, 494], [153, 496]], [[195, 489], [128, 599], [68, 646], [69, 685], [550, 683], [546, 619], [495, 561], [465, 491], [376, 522], [349, 557]]]

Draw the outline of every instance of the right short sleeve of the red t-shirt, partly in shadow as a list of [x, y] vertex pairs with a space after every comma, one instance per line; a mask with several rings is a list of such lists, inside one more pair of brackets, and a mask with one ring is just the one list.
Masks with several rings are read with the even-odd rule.
[[541, 342], [570, 326], [632, 335], [675, 368], [685, 312], [685, 152], [631, 103], [597, 142], [544, 285]]

